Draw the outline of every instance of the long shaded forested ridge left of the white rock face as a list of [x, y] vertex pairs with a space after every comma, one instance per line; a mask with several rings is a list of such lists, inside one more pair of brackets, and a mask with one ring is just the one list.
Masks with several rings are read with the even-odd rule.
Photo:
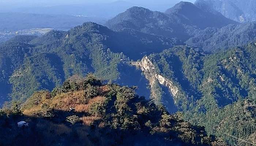
[[114, 32], [96, 23], [42, 37], [18, 36], [0, 46], [1, 98], [6, 100], [12, 92], [12, 99], [25, 100], [35, 90], [52, 89], [74, 74], [93, 72], [117, 80], [120, 60], [139, 59], [173, 44], [169, 38]]

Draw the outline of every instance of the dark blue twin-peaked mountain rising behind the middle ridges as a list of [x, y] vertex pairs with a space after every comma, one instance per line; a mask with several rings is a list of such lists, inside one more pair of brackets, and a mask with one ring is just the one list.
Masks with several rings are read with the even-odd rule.
[[180, 2], [165, 13], [153, 12], [142, 7], [132, 7], [109, 20], [106, 26], [121, 31], [124, 28], [147, 34], [178, 38], [186, 41], [195, 30], [207, 27], [223, 27], [237, 24], [221, 14], [213, 14], [199, 9], [189, 2]]

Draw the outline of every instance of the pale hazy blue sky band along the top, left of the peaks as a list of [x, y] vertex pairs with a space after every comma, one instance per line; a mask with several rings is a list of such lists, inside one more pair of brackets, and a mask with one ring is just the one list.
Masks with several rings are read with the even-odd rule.
[[[195, 0], [184, 0], [195, 2]], [[132, 6], [165, 11], [180, 0], [0, 0], [0, 12], [84, 15], [110, 19]]]

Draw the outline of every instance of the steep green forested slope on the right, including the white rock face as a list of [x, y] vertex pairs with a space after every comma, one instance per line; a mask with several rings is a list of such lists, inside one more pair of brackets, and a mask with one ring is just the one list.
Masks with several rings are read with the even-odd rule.
[[[255, 43], [249, 43], [206, 55], [193, 47], [177, 46], [131, 64], [140, 66], [151, 93], [158, 93], [152, 95], [155, 103], [162, 102], [170, 112], [169, 105], [175, 106], [190, 122], [235, 145], [234, 137], [248, 139], [256, 131], [255, 50]], [[163, 87], [156, 82], [169, 89], [170, 99], [159, 93]]]

